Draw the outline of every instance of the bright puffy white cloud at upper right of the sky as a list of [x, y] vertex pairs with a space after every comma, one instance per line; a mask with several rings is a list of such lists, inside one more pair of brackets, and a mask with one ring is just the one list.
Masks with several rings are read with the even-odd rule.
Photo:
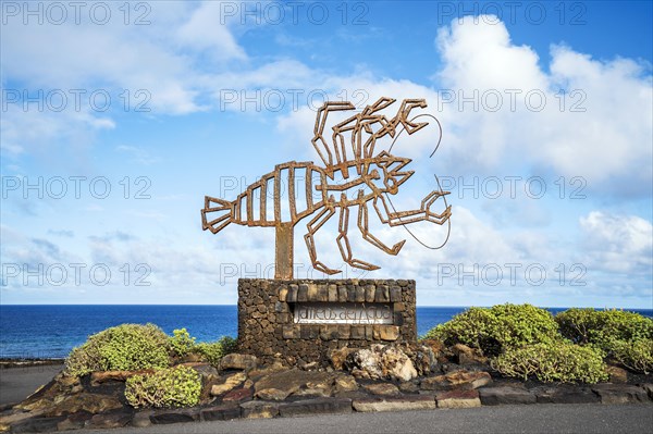
[[[453, 162], [491, 171], [502, 160], [518, 158], [535, 169], [583, 176], [592, 190], [618, 196], [629, 186], [629, 194], [650, 195], [653, 90], [648, 66], [628, 59], [593, 60], [552, 46], [546, 72], [531, 48], [510, 42], [503, 23], [489, 24], [494, 18], [455, 20], [439, 32], [445, 65], [436, 77], [456, 96], [443, 113], [446, 127], [456, 132], [459, 157]], [[559, 89], [569, 92], [564, 107]], [[475, 91], [478, 112], [460, 98], [475, 99]], [[508, 92], [515, 91], [512, 110]], [[495, 92], [503, 106], [493, 112]], [[539, 111], [542, 96], [546, 103]]]

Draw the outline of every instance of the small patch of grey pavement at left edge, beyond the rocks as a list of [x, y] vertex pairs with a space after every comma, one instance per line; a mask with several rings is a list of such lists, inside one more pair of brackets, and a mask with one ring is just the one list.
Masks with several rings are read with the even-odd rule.
[[63, 364], [0, 369], [0, 406], [22, 401], [62, 369]]

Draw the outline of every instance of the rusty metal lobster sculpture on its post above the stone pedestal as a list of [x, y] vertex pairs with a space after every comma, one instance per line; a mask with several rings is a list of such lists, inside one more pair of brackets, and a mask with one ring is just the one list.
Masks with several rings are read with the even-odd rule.
[[[294, 227], [299, 221], [317, 212], [307, 224], [308, 232], [304, 236], [306, 246], [316, 270], [335, 274], [340, 271], [330, 269], [318, 261], [313, 236], [338, 210], [336, 241], [343, 260], [349, 265], [362, 270], [379, 269], [379, 266], [356, 259], [352, 255], [347, 237], [349, 208], [358, 207], [357, 224], [364, 239], [389, 255], [397, 255], [406, 240], [389, 247], [369, 232], [368, 204], [370, 202], [381, 222], [390, 226], [420, 221], [442, 225], [451, 216], [451, 206], [447, 206], [442, 213], [431, 211], [433, 203], [448, 191], [433, 190], [423, 198], [419, 209], [401, 212], [394, 210], [394, 206], [387, 197], [389, 194], [395, 195], [399, 186], [414, 174], [414, 171], [402, 171], [411, 161], [410, 159], [394, 157], [385, 150], [374, 153], [377, 140], [386, 135], [395, 137], [399, 125], [408, 134], [414, 134], [428, 125], [427, 122], [415, 122], [415, 117], [408, 119], [414, 108], [427, 107], [423, 99], [404, 100], [392, 119], [380, 113], [394, 102], [395, 99], [381, 98], [373, 104], [367, 106], [361, 112], [333, 126], [331, 146], [323, 136], [329, 113], [354, 110], [355, 107], [350, 102], [325, 102], [318, 110], [312, 139], [312, 145], [324, 166], [318, 166], [312, 162], [291, 161], [276, 165], [273, 172], [263, 175], [258, 182], [247, 187], [234, 201], [206, 196], [205, 208], [201, 210], [202, 230], [209, 230], [217, 234], [230, 223], [247, 226], [274, 226], [276, 230], [274, 278], [289, 280], [293, 278]], [[345, 133], [350, 134], [349, 144], [345, 140]], [[297, 207], [295, 195], [297, 172], [303, 172], [305, 178], [306, 206], [300, 207], [301, 209]], [[287, 203], [282, 202], [282, 182], [288, 188]], [[268, 209], [270, 190], [273, 193], [273, 211]], [[317, 193], [317, 198], [313, 197], [313, 193]], [[347, 193], [354, 193], [354, 195], [347, 196]], [[334, 194], [340, 194], [340, 199], [335, 198]], [[289, 216], [282, 218], [283, 207], [287, 207]]]

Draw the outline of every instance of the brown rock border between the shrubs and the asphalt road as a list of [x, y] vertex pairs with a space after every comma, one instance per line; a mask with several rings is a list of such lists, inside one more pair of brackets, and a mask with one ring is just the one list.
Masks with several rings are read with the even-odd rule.
[[[529, 384], [493, 377], [460, 365], [443, 375], [408, 382], [355, 379], [342, 371], [249, 367], [219, 373], [207, 363], [187, 363], [210, 389], [204, 405], [182, 409], [127, 407], [120, 399], [130, 372], [86, 379], [58, 375], [28, 399], [0, 412], [0, 432], [150, 426], [237, 419], [293, 418], [381, 411], [433, 411], [497, 405], [653, 405], [653, 383], [632, 385]], [[463, 368], [463, 369], [456, 369]], [[134, 372], [135, 373], [135, 372]], [[98, 381], [98, 380], [102, 381]], [[95, 381], [94, 381], [95, 380]], [[529, 387], [530, 386], [530, 387]]]

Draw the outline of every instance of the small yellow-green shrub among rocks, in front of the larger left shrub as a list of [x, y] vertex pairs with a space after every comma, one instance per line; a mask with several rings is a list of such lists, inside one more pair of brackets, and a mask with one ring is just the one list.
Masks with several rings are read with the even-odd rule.
[[200, 393], [199, 374], [183, 365], [134, 375], [127, 379], [125, 386], [125, 398], [135, 408], [192, 407], [199, 402]]

